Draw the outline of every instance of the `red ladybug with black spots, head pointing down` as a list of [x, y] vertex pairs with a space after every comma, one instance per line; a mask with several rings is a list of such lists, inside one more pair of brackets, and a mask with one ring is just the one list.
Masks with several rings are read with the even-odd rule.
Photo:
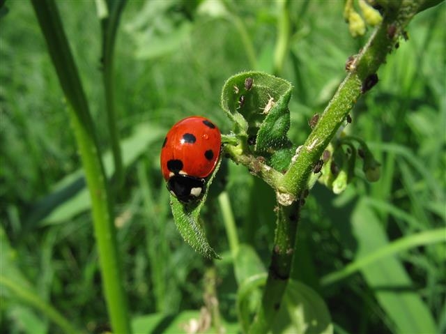
[[180, 202], [200, 199], [206, 178], [220, 158], [222, 138], [215, 124], [201, 116], [190, 116], [167, 132], [161, 149], [161, 172], [167, 189]]

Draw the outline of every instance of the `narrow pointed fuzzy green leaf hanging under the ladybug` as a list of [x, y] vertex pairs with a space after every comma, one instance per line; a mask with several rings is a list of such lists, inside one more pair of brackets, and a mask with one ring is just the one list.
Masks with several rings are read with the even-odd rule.
[[173, 195], [170, 196], [170, 204], [172, 214], [174, 215], [174, 222], [176, 228], [178, 231], [180, 231], [181, 236], [183, 236], [184, 241], [194, 248], [194, 250], [197, 250], [197, 252], [203, 255], [203, 257], [208, 257], [209, 259], [220, 259], [220, 255], [218, 255], [215, 250], [210, 247], [199, 215], [204, 202], [206, 202], [209, 186], [220, 167], [220, 162], [221, 160], [218, 162], [212, 176], [210, 176], [210, 179], [206, 181], [207, 189], [201, 200], [195, 203], [183, 204]]

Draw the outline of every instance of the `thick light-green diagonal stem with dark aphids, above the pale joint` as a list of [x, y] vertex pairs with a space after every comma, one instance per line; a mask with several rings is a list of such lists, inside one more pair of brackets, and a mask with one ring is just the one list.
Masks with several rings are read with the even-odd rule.
[[[280, 184], [286, 192], [298, 195], [307, 188], [307, 180], [312, 173], [314, 163], [321, 157], [323, 150], [344, 122], [357, 99], [364, 93], [362, 87], [367, 77], [376, 73], [380, 65], [384, 63], [387, 53], [392, 50], [397, 41], [398, 33], [402, 32], [413, 15], [417, 13], [420, 3], [422, 1], [392, 1], [392, 5], [396, 8], [386, 11], [383, 22], [374, 31], [360, 54], [357, 54], [354, 68], [340, 84], [299, 154], [291, 162]], [[387, 28], [390, 24], [399, 27], [397, 35], [387, 36]]]

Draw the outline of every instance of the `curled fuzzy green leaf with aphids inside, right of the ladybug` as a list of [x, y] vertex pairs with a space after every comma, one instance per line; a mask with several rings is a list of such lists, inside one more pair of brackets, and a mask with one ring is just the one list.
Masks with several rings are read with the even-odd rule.
[[[247, 81], [252, 80], [252, 85]], [[251, 149], [281, 171], [288, 167], [293, 149], [286, 136], [290, 128], [288, 103], [293, 86], [279, 77], [244, 72], [230, 77], [222, 89], [222, 108], [234, 123], [233, 131]]]

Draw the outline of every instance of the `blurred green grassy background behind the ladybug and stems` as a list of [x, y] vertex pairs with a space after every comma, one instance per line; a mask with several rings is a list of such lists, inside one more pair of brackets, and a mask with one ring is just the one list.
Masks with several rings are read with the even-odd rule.
[[[58, 1], [105, 165], [112, 172], [100, 72], [100, 22], [93, 1]], [[295, 87], [295, 144], [310, 132], [345, 77], [353, 39], [344, 1], [291, 1], [293, 35], [280, 77]], [[6, 10], [6, 8], [7, 10]], [[220, 108], [225, 79], [243, 70], [273, 71], [279, 4], [272, 1], [128, 1], [115, 53], [116, 110], [125, 186], [115, 206], [125, 288], [132, 317], [178, 314], [203, 305], [206, 262], [186, 245], [171, 218], [160, 174], [164, 132], [203, 115], [229, 133]], [[336, 333], [395, 333], [413, 317], [446, 331], [444, 243], [391, 253], [332, 284], [321, 280], [364, 252], [445, 226], [445, 4], [408, 26], [408, 41], [388, 56], [379, 82], [362, 97], [346, 132], [364, 138], [382, 163], [381, 178], [359, 176], [334, 196], [316, 185], [302, 211], [293, 277], [318, 291]], [[66, 104], [28, 1], [6, 1], [0, 17], [1, 272], [13, 275], [72, 324], [107, 328], [89, 198]], [[107, 155], [108, 154], [108, 155]], [[226, 163], [226, 161], [224, 161]], [[240, 241], [268, 267], [275, 196], [242, 166], [227, 163], [226, 191]], [[224, 320], [236, 322], [233, 277], [221, 208], [206, 204]], [[211, 217], [211, 218], [210, 218]], [[321, 284], [322, 282], [322, 284]], [[0, 291], [2, 333], [57, 332], [8, 289]], [[424, 327], [423, 327], [424, 326]]]

